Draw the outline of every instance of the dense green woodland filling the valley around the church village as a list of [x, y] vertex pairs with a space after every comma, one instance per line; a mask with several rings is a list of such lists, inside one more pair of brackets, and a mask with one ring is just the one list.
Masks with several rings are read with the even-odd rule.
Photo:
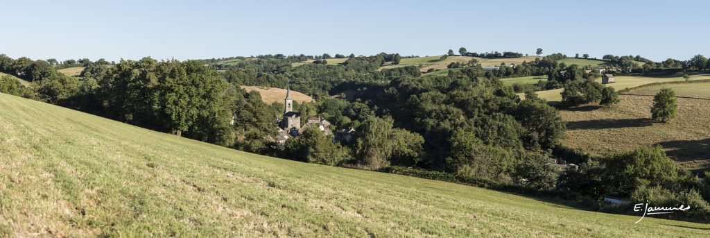
[[[520, 53], [468, 53], [481, 58], [519, 58]], [[453, 55], [449, 50], [447, 55]], [[515, 188], [573, 200], [617, 196], [633, 200], [685, 202], [686, 213], [709, 219], [710, 188], [682, 171], [660, 148], [638, 148], [596, 158], [565, 148], [565, 122], [536, 90], [564, 88], [564, 104], [613, 104], [618, 94], [594, 82], [589, 67], [564, 65], [552, 54], [511, 67], [484, 70], [459, 65], [448, 75], [422, 75], [397, 65], [398, 54], [347, 58], [327, 65], [330, 55], [259, 55], [209, 60], [31, 60], [0, 55], [0, 92], [38, 99], [156, 131], [269, 156], [332, 166], [477, 181], [490, 188]], [[618, 72], [710, 70], [701, 55], [660, 63], [640, 56], [605, 55]], [[221, 63], [230, 60], [229, 64]], [[294, 66], [305, 60], [315, 60]], [[320, 60], [320, 61], [319, 61]], [[638, 62], [643, 62], [639, 66]], [[80, 77], [58, 68], [83, 66]], [[615, 70], [615, 69], [612, 69]], [[503, 85], [501, 78], [547, 75], [537, 85]], [[289, 83], [290, 82], [290, 83]], [[288, 85], [287, 85], [288, 84]], [[308, 129], [283, 146], [274, 138], [283, 104], [265, 104], [239, 86], [290, 87], [315, 102], [295, 104], [302, 119], [322, 117], [334, 131], [353, 129], [354, 140], [335, 141]], [[525, 92], [520, 99], [516, 92]], [[564, 106], [561, 106], [564, 107]], [[579, 169], [560, 171], [557, 159]], [[644, 166], [639, 166], [644, 165]], [[400, 171], [400, 172], [398, 172]], [[662, 198], [662, 199], [661, 199]]]

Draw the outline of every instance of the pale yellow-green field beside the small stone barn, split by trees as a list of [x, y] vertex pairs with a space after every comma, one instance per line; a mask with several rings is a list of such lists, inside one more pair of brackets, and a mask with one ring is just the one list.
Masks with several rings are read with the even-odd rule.
[[[616, 82], [608, 84], [606, 86], [611, 86], [614, 87], [615, 90], [623, 90], [626, 88], [633, 88], [633, 87], [638, 87], [641, 85], [648, 85], [653, 82], [677, 82], [677, 81], [683, 81], [682, 75], [672, 75], [672, 76], [667, 76], [667, 77], [635, 77], [635, 76], [628, 76], [628, 77], [615, 77]], [[710, 74], [695, 74], [690, 76], [690, 80], [704, 80], [704, 79], [710, 79]], [[597, 82], [601, 82], [601, 78], [596, 80]], [[562, 101], [562, 89], [555, 89], [555, 90], [545, 90], [545, 91], [538, 91], [537, 96], [540, 98], [546, 99], [548, 102], [560, 102]]]

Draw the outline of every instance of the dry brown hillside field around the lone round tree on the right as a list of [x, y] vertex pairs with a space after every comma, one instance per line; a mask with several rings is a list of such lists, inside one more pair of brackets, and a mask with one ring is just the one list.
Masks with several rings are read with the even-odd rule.
[[706, 170], [710, 168], [710, 100], [677, 100], [678, 117], [669, 123], [652, 123], [653, 96], [621, 95], [621, 102], [611, 108], [589, 105], [562, 110], [567, 121], [564, 144], [595, 155], [660, 145], [687, 168]]

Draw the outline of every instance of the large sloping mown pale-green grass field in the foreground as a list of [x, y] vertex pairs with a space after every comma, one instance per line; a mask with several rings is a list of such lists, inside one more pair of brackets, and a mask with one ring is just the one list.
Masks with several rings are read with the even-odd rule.
[[708, 237], [435, 180], [300, 163], [0, 94], [0, 237]]

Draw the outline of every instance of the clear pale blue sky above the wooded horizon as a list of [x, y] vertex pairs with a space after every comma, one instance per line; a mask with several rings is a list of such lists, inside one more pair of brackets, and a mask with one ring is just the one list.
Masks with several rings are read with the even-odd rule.
[[[148, 1], [145, 1], [148, 2]], [[709, 1], [3, 1], [13, 58], [322, 53], [710, 56]]]

